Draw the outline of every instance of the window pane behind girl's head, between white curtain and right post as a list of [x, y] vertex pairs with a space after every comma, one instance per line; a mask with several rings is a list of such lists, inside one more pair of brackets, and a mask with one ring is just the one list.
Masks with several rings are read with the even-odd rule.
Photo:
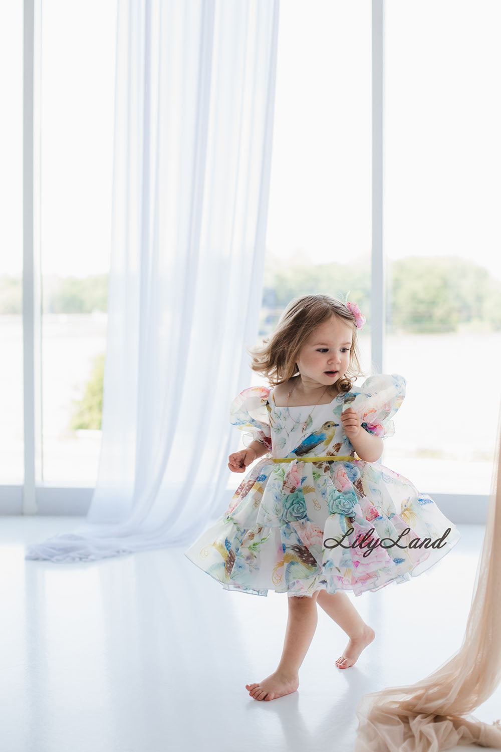
[[[291, 298], [327, 293], [367, 317], [371, 372], [370, 2], [280, 5], [262, 341]], [[266, 384], [252, 374], [252, 384]], [[355, 383], [360, 384], [363, 379]], [[240, 447], [243, 438], [240, 437]], [[234, 448], [236, 450], [237, 447]], [[233, 451], [234, 451], [233, 450]], [[235, 487], [234, 474], [228, 488]]]

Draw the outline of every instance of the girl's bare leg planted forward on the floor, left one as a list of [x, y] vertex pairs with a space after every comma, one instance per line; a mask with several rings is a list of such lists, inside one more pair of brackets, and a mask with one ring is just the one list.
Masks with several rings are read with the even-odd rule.
[[282, 657], [276, 671], [255, 684], [246, 684], [249, 695], [256, 700], [273, 700], [295, 692], [299, 687], [299, 667], [312, 641], [317, 626], [316, 599], [318, 590], [309, 596], [287, 596], [288, 620]]

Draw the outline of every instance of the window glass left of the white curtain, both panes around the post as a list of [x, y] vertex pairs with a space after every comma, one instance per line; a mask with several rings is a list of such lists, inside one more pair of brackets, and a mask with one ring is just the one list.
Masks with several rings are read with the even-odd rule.
[[[33, 272], [41, 300], [39, 381], [28, 374], [41, 415], [37, 481], [92, 487], [110, 265], [116, 0], [35, 0], [35, 20], [33, 77], [24, 72], [34, 92], [33, 244], [40, 259]], [[23, 2], [2, 7], [2, 484], [24, 479], [23, 23]]]

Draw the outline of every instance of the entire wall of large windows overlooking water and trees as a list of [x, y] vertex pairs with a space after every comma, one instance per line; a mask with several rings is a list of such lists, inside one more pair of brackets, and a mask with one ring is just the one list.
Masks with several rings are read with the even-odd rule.
[[[117, 8], [116, 0], [44, 0], [43, 8], [35, 0], [35, 7], [37, 481], [92, 486], [101, 444]], [[372, 89], [373, 4], [280, 6], [259, 338], [292, 297], [349, 292], [367, 317], [362, 368], [373, 370], [371, 347], [380, 338], [382, 370], [407, 380], [383, 462], [424, 492], [486, 495], [501, 400], [501, 6], [385, 0], [383, 8], [379, 217], [371, 201], [378, 185], [371, 112], [379, 97]], [[8, 113], [0, 123], [0, 483], [21, 484], [22, 2], [2, 8], [0, 41]], [[383, 227], [383, 270], [373, 253], [375, 220]]]

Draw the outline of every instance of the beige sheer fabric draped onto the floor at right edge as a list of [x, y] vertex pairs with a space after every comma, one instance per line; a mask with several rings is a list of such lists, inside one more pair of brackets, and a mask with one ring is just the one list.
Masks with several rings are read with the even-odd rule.
[[[501, 680], [501, 410], [484, 543], [463, 643], [416, 684], [364, 695], [354, 752], [437, 752], [459, 744], [501, 749], [499, 719], [470, 714]], [[501, 715], [501, 712], [499, 713]]]

